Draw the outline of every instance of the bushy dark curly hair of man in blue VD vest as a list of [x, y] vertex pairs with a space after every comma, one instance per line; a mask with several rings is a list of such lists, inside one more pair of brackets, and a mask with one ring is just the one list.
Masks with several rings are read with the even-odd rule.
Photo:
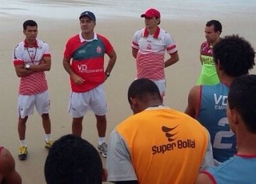
[[213, 47], [214, 62], [231, 77], [248, 74], [255, 65], [254, 48], [250, 42], [238, 35], [228, 35]]

